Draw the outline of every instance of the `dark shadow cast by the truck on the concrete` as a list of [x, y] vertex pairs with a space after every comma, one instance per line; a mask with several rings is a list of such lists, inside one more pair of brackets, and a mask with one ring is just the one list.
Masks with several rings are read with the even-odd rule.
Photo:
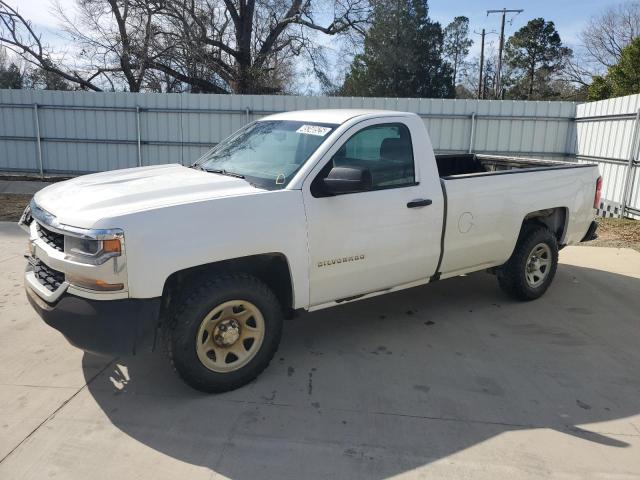
[[[640, 431], [639, 291], [561, 265], [544, 298], [515, 303], [474, 274], [289, 321], [235, 392], [195, 392], [161, 355], [118, 359], [88, 389], [125, 434], [231, 478], [385, 478], [541, 428], [625, 449]], [[562, 458], [530, 448], [525, 466]]]

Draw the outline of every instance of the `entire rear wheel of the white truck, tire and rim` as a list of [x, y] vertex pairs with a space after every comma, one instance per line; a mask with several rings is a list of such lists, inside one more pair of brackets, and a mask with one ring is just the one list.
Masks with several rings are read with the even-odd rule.
[[498, 284], [517, 300], [541, 297], [558, 268], [558, 241], [542, 226], [525, 227], [511, 258], [498, 269]]

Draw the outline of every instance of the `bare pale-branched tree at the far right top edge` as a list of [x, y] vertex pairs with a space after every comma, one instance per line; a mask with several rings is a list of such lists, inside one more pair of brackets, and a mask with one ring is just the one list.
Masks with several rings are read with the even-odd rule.
[[620, 59], [622, 49], [640, 35], [640, 2], [631, 1], [606, 8], [589, 21], [580, 39], [586, 54], [600, 70]]

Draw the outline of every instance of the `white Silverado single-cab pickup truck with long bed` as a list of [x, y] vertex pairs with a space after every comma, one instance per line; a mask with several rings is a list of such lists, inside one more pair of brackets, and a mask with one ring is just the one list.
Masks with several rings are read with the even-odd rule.
[[194, 165], [86, 175], [38, 192], [28, 298], [74, 345], [167, 345], [207, 392], [262, 372], [283, 317], [468, 272], [520, 300], [559, 248], [595, 238], [593, 165], [434, 155], [414, 114], [288, 112]]

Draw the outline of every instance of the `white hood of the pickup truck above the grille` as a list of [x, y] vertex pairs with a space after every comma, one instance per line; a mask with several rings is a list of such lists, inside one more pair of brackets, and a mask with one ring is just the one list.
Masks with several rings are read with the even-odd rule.
[[34, 198], [60, 223], [91, 228], [103, 218], [140, 210], [261, 192], [240, 178], [170, 164], [83, 175], [54, 183]]

